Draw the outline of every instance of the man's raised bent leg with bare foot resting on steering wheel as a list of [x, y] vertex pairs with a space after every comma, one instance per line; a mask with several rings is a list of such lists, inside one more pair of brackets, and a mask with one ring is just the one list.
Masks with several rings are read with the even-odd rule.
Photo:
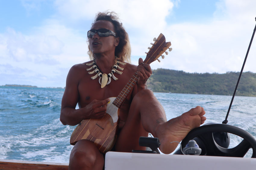
[[[183, 113], [177, 118], [166, 120], [164, 108], [150, 90], [139, 91], [131, 103], [128, 118], [118, 136], [117, 151], [129, 152], [139, 147], [139, 135], [146, 132], [158, 137], [161, 143], [159, 149], [165, 154], [175, 150], [180, 142], [193, 128], [199, 127], [206, 118], [204, 109], [200, 106]], [[132, 148], [133, 147], [133, 148]]]

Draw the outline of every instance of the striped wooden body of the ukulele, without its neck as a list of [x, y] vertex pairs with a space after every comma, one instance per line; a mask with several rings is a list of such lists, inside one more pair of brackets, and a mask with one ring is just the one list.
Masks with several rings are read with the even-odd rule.
[[99, 151], [105, 153], [114, 146], [118, 129], [118, 108], [112, 104], [115, 97], [110, 98], [107, 114], [100, 119], [85, 119], [77, 125], [70, 137], [70, 144], [75, 145], [81, 139], [95, 143]]

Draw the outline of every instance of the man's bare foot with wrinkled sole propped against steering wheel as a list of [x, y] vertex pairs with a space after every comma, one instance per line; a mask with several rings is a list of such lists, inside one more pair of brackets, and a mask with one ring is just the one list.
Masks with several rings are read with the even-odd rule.
[[160, 151], [164, 154], [173, 152], [179, 144], [173, 141], [180, 142], [192, 129], [203, 124], [206, 120], [206, 117], [203, 116], [204, 114], [204, 108], [197, 106], [179, 117], [159, 124], [155, 130], [155, 135], [161, 143]]

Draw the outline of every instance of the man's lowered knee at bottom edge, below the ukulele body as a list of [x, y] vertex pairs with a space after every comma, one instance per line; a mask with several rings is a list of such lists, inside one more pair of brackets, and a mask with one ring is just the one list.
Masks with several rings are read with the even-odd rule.
[[93, 142], [88, 140], [76, 142], [70, 154], [69, 170], [100, 170], [103, 166], [103, 155]]

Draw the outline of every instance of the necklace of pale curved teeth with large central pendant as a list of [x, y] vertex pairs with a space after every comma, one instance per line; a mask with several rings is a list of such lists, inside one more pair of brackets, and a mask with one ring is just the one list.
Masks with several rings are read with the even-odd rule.
[[[121, 65], [125, 65], [126, 63], [123, 63], [123, 62], [120, 62], [120, 61], [117, 61], [116, 64], [114, 64], [112, 66], [112, 70], [111, 70], [111, 73], [108, 73], [108, 74], [105, 74], [105, 73], [101, 73], [100, 69], [98, 68], [96, 62], [95, 62], [95, 59], [93, 60], [92, 63], [87, 63], [86, 65], [87, 66], [92, 66], [90, 68], [87, 68], [86, 71], [89, 71], [89, 70], [92, 70], [94, 69], [93, 71], [91, 72], [88, 72], [89, 74], [94, 74], [96, 73], [95, 76], [92, 76], [91, 79], [96, 79], [97, 77], [99, 77], [99, 83], [101, 85], [101, 88], [104, 88], [106, 85], [108, 85], [110, 82], [111, 82], [111, 77], [114, 79], [114, 80], [118, 80], [118, 78], [116, 78], [114, 76], [114, 73], [117, 73], [117, 74], [122, 74], [123, 72], [122, 71], [119, 71], [119, 70], [123, 70], [122, 67], [119, 66], [119, 64]], [[119, 70], [117, 70], [119, 69]]]

